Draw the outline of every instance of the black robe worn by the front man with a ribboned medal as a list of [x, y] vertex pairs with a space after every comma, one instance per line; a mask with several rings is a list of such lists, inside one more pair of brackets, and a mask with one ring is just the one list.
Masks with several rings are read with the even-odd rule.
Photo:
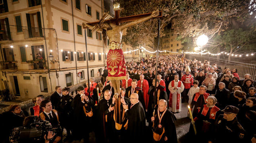
[[[157, 109], [158, 110], [158, 109]], [[155, 121], [154, 121], [154, 129], [158, 127], [159, 125], [159, 117], [158, 117], [158, 112], [157, 110], [155, 111]], [[159, 112], [161, 113], [161, 112]], [[163, 113], [163, 112], [162, 112]], [[164, 134], [162, 138], [160, 139], [160, 143], [178, 143], [177, 140], [177, 134], [176, 134], [176, 127], [174, 122], [176, 121], [176, 117], [170, 110], [166, 110], [164, 113], [162, 119], [161, 119], [161, 126], [162, 128], [164, 127]], [[164, 141], [164, 137], [167, 137], [167, 141]]]

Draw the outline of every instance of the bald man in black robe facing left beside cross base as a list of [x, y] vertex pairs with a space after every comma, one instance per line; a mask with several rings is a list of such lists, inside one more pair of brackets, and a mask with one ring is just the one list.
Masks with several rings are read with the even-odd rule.
[[128, 118], [127, 141], [128, 142], [143, 142], [145, 139], [146, 118], [139, 95], [132, 93], [130, 96], [131, 107], [123, 104], [125, 115]]

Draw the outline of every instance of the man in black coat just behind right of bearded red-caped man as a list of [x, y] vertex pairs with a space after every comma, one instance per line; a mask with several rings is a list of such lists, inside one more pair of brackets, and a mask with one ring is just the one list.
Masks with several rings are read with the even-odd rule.
[[216, 106], [221, 110], [228, 105], [229, 98], [230, 98], [230, 91], [225, 88], [225, 84], [223, 82], [219, 83], [219, 89], [217, 89], [215, 97], [218, 100]]

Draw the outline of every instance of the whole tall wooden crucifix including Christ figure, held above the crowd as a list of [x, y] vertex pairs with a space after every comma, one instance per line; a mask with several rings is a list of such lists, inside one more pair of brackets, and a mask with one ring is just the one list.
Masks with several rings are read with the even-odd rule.
[[[151, 18], [162, 17], [161, 11], [154, 11], [153, 13], [144, 13], [140, 15], [132, 15], [127, 17], [120, 17], [120, 6], [115, 1], [114, 19], [106, 19], [107, 13], [97, 22], [82, 23], [83, 28], [92, 28], [93, 31], [102, 31], [103, 42], [106, 43], [106, 36], [109, 37], [109, 52], [107, 54], [107, 69], [108, 78], [111, 80], [115, 90], [116, 108], [115, 108], [115, 122], [116, 128], [120, 130], [122, 127], [122, 117], [120, 116], [120, 80], [126, 78], [126, 66], [124, 61], [124, 55], [122, 51], [122, 31], [132, 25], [141, 23]], [[121, 24], [124, 23], [124, 24]], [[106, 45], [106, 44], [105, 44]], [[87, 58], [88, 59], [88, 58]], [[103, 93], [104, 95], [104, 93]], [[104, 97], [103, 97], [104, 98]]]

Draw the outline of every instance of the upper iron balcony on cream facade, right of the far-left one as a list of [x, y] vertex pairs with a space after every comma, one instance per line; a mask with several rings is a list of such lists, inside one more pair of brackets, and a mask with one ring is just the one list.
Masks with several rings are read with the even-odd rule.
[[[31, 29], [31, 31], [30, 31]], [[22, 30], [25, 41], [42, 41], [44, 40], [44, 35], [40, 35], [39, 28], [29, 28]]]

